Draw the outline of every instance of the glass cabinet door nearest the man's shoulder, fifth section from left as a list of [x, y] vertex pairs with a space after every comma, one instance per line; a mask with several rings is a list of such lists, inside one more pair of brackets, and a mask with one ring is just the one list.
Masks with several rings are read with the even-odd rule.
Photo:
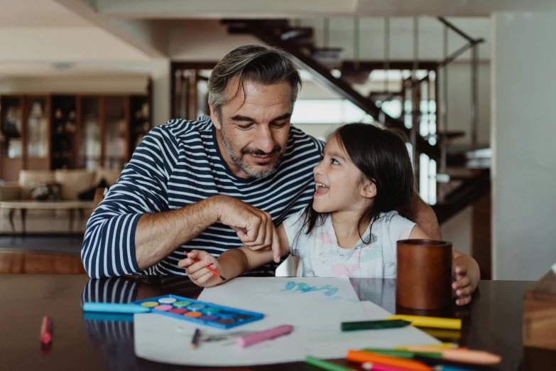
[[127, 159], [127, 98], [104, 97], [104, 168], [124, 168]]

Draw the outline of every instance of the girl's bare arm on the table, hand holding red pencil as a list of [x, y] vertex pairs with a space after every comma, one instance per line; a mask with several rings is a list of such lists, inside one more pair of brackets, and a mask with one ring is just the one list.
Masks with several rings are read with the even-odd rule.
[[[283, 225], [280, 225], [276, 230], [280, 240], [280, 256], [284, 256], [290, 252], [288, 235], [286, 235]], [[200, 259], [200, 262], [195, 262], [195, 259]], [[187, 276], [197, 286], [209, 287], [222, 284], [224, 280], [212, 274], [207, 266], [229, 280], [272, 261], [273, 251], [271, 249], [254, 251], [249, 247], [241, 246], [237, 249], [226, 250], [220, 254], [218, 259], [208, 252], [193, 250], [187, 254], [187, 259], [178, 262], [178, 266], [185, 267]]]

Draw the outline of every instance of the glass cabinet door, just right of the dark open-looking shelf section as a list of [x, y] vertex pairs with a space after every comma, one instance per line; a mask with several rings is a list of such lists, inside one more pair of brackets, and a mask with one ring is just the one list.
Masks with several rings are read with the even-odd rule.
[[80, 168], [94, 171], [100, 166], [99, 97], [81, 97]]

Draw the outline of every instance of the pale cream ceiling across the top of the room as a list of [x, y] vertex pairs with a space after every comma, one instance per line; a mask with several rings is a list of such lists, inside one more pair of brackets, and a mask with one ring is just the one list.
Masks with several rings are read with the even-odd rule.
[[[479, 36], [489, 34], [488, 16], [492, 11], [556, 11], [556, 1], [547, 0], [1, 0], [1, 3], [0, 77], [143, 73], [148, 72], [150, 61], [214, 60], [236, 45], [258, 42], [251, 36], [228, 35], [218, 18], [333, 16], [337, 20], [334, 27], [341, 26], [347, 31], [355, 15], [472, 16], [456, 23]], [[410, 32], [410, 27], [396, 28], [396, 23], [392, 24], [393, 31]], [[427, 31], [427, 24], [427, 21], [421, 24], [423, 32]], [[431, 32], [436, 32], [437, 25], [430, 24]], [[371, 30], [375, 26], [369, 23], [369, 27]], [[381, 27], [382, 23], [376, 22], [376, 30]], [[56, 62], [70, 63], [70, 68], [55, 69], [52, 65]]]

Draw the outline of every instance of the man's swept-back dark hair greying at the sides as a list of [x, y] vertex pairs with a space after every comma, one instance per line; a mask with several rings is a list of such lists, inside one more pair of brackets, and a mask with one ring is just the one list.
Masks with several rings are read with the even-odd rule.
[[[230, 80], [238, 78], [236, 93], [227, 99], [226, 88]], [[244, 45], [231, 50], [217, 63], [209, 77], [209, 103], [221, 119], [222, 106], [234, 99], [244, 80], [262, 85], [289, 82], [292, 88], [292, 106], [301, 88], [301, 75], [285, 51], [263, 45]]]

